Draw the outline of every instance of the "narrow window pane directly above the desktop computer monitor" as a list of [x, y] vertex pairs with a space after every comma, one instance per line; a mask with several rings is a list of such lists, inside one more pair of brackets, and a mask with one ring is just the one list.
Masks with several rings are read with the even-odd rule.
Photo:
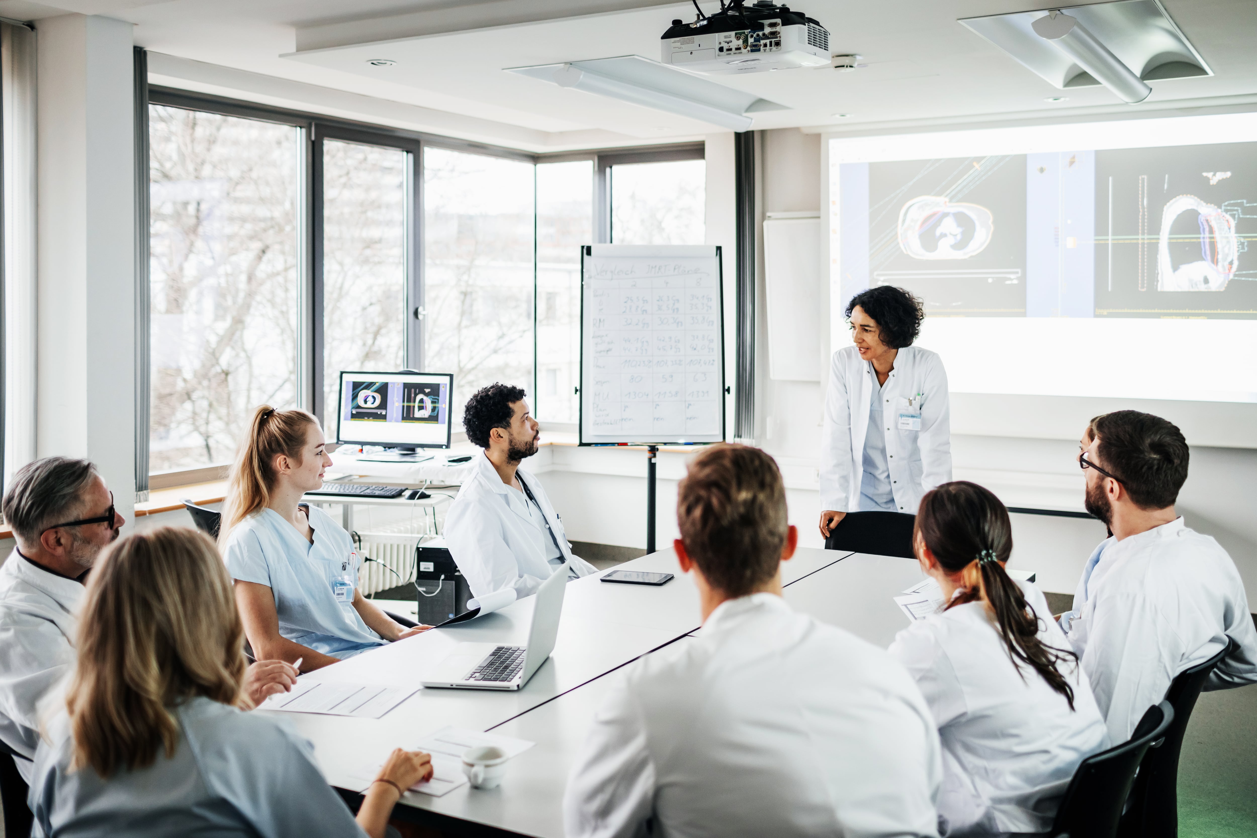
[[342, 369], [405, 367], [406, 152], [323, 141], [323, 415]]

